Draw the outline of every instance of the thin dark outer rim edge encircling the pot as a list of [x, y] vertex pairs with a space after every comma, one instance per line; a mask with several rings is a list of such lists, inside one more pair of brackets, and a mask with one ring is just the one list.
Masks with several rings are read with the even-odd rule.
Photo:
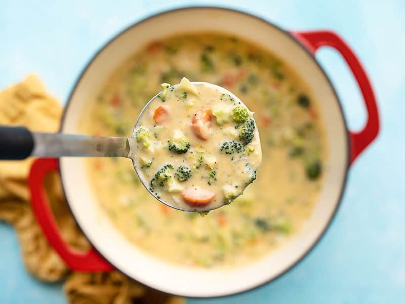
[[[86, 73], [86, 71], [88, 70], [89, 66], [92, 64], [92, 62], [99, 56], [100, 53], [102, 53], [102, 52], [104, 51], [104, 49], [105, 49], [108, 45], [110, 45], [110, 44], [111, 44], [112, 42], [114, 42], [119, 36], [123, 35], [123, 34], [126, 33], [127, 31], [132, 30], [132, 29], [133, 29], [134, 27], [136, 27], [137, 25], [139, 25], [139, 24], [141, 24], [141, 23], [143, 23], [143, 22], [145, 22], [145, 21], [147, 21], [147, 20], [150, 20], [150, 19], [152, 19], [152, 18], [158, 17], [158, 16], [160, 16], [160, 15], [164, 15], [164, 14], [167, 14], [167, 13], [177, 12], [177, 11], [189, 11], [189, 10], [198, 10], [198, 9], [212, 9], [212, 10], [219, 10], [219, 11], [227, 11], [227, 12], [233, 12], [233, 13], [238, 13], [238, 14], [242, 14], [242, 15], [249, 16], [249, 17], [253, 17], [253, 18], [255, 18], [255, 19], [257, 19], [257, 20], [263, 22], [265, 25], [271, 26], [271, 27], [273, 27], [274, 29], [276, 29], [276, 30], [278, 30], [278, 31], [280, 31], [280, 32], [282, 32], [282, 33], [284, 33], [285, 35], [287, 35], [287, 36], [289, 37], [289, 39], [291, 39], [299, 48], [301, 48], [302, 50], [304, 50], [304, 51], [311, 57], [311, 59], [313, 60], [314, 64], [317, 66], [317, 68], [319, 69], [319, 71], [320, 71], [320, 72], [323, 74], [323, 76], [326, 78], [326, 80], [327, 80], [327, 82], [329, 83], [329, 85], [330, 85], [330, 87], [331, 87], [331, 89], [332, 89], [332, 92], [333, 92], [333, 94], [334, 94], [334, 96], [335, 96], [335, 98], [336, 98], [336, 100], [337, 100], [338, 108], [339, 108], [339, 111], [340, 111], [340, 114], [341, 114], [341, 118], [342, 118], [342, 120], [343, 120], [343, 122], [344, 122], [344, 127], [345, 127], [345, 131], [346, 131], [346, 132], [345, 132], [345, 137], [346, 137], [346, 166], [345, 166], [345, 167], [346, 167], [346, 168], [345, 168], [345, 173], [344, 173], [343, 181], [342, 181], [342, 183], [341, 183], [340, 194], [339, 194], [338, 199], [337, 199], [337, 201], [336, 201], [336, 203], [335, 203], [335, 208], [334, 208], [333, 212], [331, 213], [331, 215], [330, 215], [330, 217], [329, 217], [329, 219], [328, 219], [328, 221], [327, 221], [327, 224], [325, 225], [325, 227], [324, 227], [324, 228], [322, 229], [322, 231], [320, 232], [319, 236], [316, 238], [316, 240], [313, 242], [313, 244], [312, 244], [307, 250], [305, 250], [305, 251], [302, 252], [301, 256], [300, 256], [297, 260], [295, 260], [293, 263], [291, 263], [288, 267], [286, 267], [282, 272], [280, 272], [279, 274], [277, 274], [277, 275], [274, 276], [273, 278], [271, 278], [271, 279], [269, 279], [269, 280], [267, 280], [267, 281], [265, 281], [265, 282], [263, 282], [263, 283], [261, 283], [261, 284], [258, 284], [258, 285], [254, 286], [254, 287], [251, 287], [251, 288], [249, 288], [249, 289], [242, 290], [242, 291], [240, 291], [240, 292], [228, 293], [228, 294], [224, 294], [224, 295], [212, 297], [212, 298], [221, 298], [221, 297], [226, 297], [226, 296], [230, 296], [230, 295], [234, 295], [234, 294], [246, 293], [246, 292], [248, 292], [248, 291], [255, 290], [255, 289], [258, 289], [258, 288], [260, 288], [260, 287], [263, 287], [263, 286], [267, 285], [268, 283], [273, 282], [273, 281], [275, 281], [275, 280], [281, 278], [282, 276], [284, 276], [285, 274], [287, 274], [290, 270], [292, 270], [293, 268], [295, 268], [295, 266], [296, 266], [297, 264], [299, 264], [306, 256], [308, 256], [308, 254], [316, 247], [316, 245], [319, 244], [319, 242], [321, 241], [321, 239], [323, 238], [323, 236], [325, 236], [325, 234], [326, 234], [326, 232], [328, 231], [329, 227], [331, 226], [333, 220], [335, 219], [336, 214], [337, 214], [337, 211], [338, 211], [338, 209], [339, 209], [339, 207], [340, 207], [340, 205], [341, 205], [341, 203], [342, 203], [342, 199], [343, 199], [343, 195], [344, 195], [344, 190], [345, 190], [346, 184], [347, 184], [347, 177], [348, 177], [349, 167], [350, 167], [350, 161], [349, 161], [349, 160], [350, 160], [350, 137], [349, 137], [349, 129], [348, 129], [348, 124], [347, 124], [346, 118], [345, 118], [345, 116], [344, 116], [342, 104], [341, 104], [340, 98], [339, 98], [339, 96], [338, 96], [338, 94], [337, 94], [337, 92], [336, 92], [336, 90], [335, 90], [335, 87], [333, 86], [333, 84], [332, 84], [331, 80], [329, 79], [329, 77], [328, 77], [327, 73], [325, 72], [325, 70], [323, 70], [323, 68], [320, 66], [320, 64], [318, 63], [318, 61], [316, 61], [316, 58], [315, 58], [314, 54], [312, 54], [312, 53], [311, 53], [300, 41], [298, 41], [298, 39], [297, 39], [294, 35], [292, 35], [289, 31], [287, 31], [287, 30], [285, 30], [285, 29], [282, 29], [282, 28], [279, 27], [278, 25], [276, 25], [276, 24], [274, 24], [274, 23], [272, 23], [272, 22], [270, 22], [270, 21], [268, 21], [268, 20], [266, 20], [266, 19], [264, 19], [264, 18], [262, 18], [262, 17], [259, 17], [259, 16], [257, 16], [257, 15], [254, 15], [254, 14], [252, 14], [252, 13], [249, 13], [249, 12], [240, 11], [240, 10], [233, 9], [233, 8], [229, 8], [229, 7], [221, 7], [221, 6], [190, 6], [190, 7], [178, 7], [178, 8], [174, 8], [174, 9], [168, 9], [168, 10], [160, 10], [159, 12], [152, 13], [152, 14], [150, 14], [149, 16], [146, 16], [146, 17], [140, 19], [139, 21], [135, 21], [135, 22], [132, 23], [131, 25], [125, 27], [123, 30], [120, 30], [118, 33], [114, 34], [114, 35], [113, 35], [109, 40], [107, 40], [107, 42], [104, 43], [104, 45], [103, 45], [102, 47], [100, 47], [100, 48], [94, 53], [94, 55], [87, 61], [85, 67], [82, 69], [82, 71], [79, 73], [78, 77], [77, 77], [76, 80], [74, 81], [74, 84], [73, 84], [73, 86], [72, 86], [72, 88], [71, 88], [71, 90], [70, 90], [70, 93], [69, 93], [69, 95], [68, 95], [68, 99], [67, 99], [67, 101], [66, 101], [65, 107], [64, 107], [63, 112], [62, 112], [62, 117], [61, 117], [61, 121], [60, 121], [59, 132], [62, 132], [63, 125], [64, 125], [64, 122], [65, 122], [65, 119], [66, 119], [67, 108], [68, 108], [68, 106], [69, 106], [69, 104], [70, 104], [71, 98], [72, 98], [72, 96], [73, 96], [73, 94], [74, 94], [74, 92], [75, 92], [75, 90], [76, 90], [76, 88], [77, 88], [79, 82], [82, 80], [84, 74]], [[58, 159], [58, 164], [59, 164], [59, 168], [61, 168], [61, 166], [60, 166], [60, 159]], [[59, 169], [59, 170], [61, 170], [61, 169]], [[60, 178], [61, 178], [61, 186], [62, 186], [63, 195], [64, 195], [65, 200], [66, 200], [66, 202], [67, 202], [69, 211], [70, 211], [70, 213], [72, 214], [73, 218], [75, 219], [75, 216], [74, 216], [74, 213], [73, 213], [73, 211], [72, 211], [72, 209], [71, 209], [71, 207], [70, 207], [69, 201], [67, 200], [66, 191], [65, 191], [64, 182], [63, 182], [63, 174], [60, 174]], [[76, 221], [76, 220], [75, 220], [75, 221]], [[103, 257], [106, 261], [110, 262], [110, 261], [97, 249], [97, 247], [95, 247], [94, 244], [87, 238], [86, 234], [84, 233], [84, 230], [82, 229], [82, 227], [79, 225], [79, 223], [78, 223], [77, 221], [76, 221], [76, 224], [77, 224], [79, 230], [80, 230], [80, 231], [83, 233], [83, 235], [86, 237], [86, 239], [88, 240], [88, 242], [90, 243], [90, 245], [94, 248], [94, 250], [95, 250], [101, 257]], [[116, 265], [114, 265], [114, 264], [111, 263], [111, 262], [110, 262], [110, 264], [114, 267], [114, 269], [115, 269], [116, 271], [120, 272], [121, 274], [125, 275], [126, 277], [128, 277], [128, 278], [131, 279], [131, 280], [135, 280], [135, 279], [133, 279], [131, 276], [127, 275], [127, 273], [125, 272], [125, 270], [117, 268]], [[137, 281], [137, 283], [140, 283], [140, 284], [143, 285], [143, 286], [147, 286], [148, 288], [151, 288], [151, 289], [156, 290], [155, 288], [153, 288], [153, 287], [151, 287], [151, 286], [148, 286], [148, 285], [146, 285], [146, 284], [144, 284], [144, 283], [142, 283], [142, 282]], [[168, 292], [165, 292], [165, 293], [168, 293]], [[168, 293], [168, 294], [171, 294], [171, 293]], [[186, 296], [186, 295], [184, 295], [184, 294], [173, 294], [173, 295], [184, 296], [184, 297], [188, 297], [188, 298], [207, 298], [207, 297], [205, 297], [205, 296], [189, 297], [189, 296]]]

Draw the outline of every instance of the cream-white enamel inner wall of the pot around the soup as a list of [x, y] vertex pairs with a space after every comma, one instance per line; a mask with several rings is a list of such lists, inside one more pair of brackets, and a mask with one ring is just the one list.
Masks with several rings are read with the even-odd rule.
[[118, 233], [99, 210], [82, 159], [63, 158], [60, 168], [74, 217], [91, 243], [111, 264], [135, 280], [158, 290], [195, 297], [220, 296], [245, 291], [271, 280], [290, 268], [314, 245], [339, 202], [348, 164], [346, 128], [338, 100], [327, 78], [313, 58], [289, 35], [243, 13], [194, 8], [149, 18], [126, 30], [105, 47], [78, 82], [65, 113], [62, 132], [77, 132], [84, 102], [95, 96], [120, 62], [151, 40], [186, 31], [220, 31], [262, 45], [294, 67], [320, 102], [328, 136], [329, 161], [325, 164], [325, 185], [319, 201], [302, 231], [285, 246], [244, 268], [227, 271], [182, 268], [138, 250]]

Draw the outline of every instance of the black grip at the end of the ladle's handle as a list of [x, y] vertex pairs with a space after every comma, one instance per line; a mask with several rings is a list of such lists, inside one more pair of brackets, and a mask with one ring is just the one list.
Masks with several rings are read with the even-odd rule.
[[32, 133], [25, 127], [0, 126], [0, 159], [23, 160], [34, 149]]

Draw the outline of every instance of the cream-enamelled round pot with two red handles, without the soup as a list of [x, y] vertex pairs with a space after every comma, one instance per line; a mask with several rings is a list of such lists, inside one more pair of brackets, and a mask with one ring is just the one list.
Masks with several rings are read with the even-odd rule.
[[[117, 269], [152, 288], [192, 297], [238, 293], [274, 280], [299, 262], [325, 233], [339, 206], [350, 165], [376, 138], [379, 118], [370, 81], [341, 37], [328, 30], [286, 31], [258, 17], [222, 8], [164, 12], [115, 36], [96, 53], [74, 85], [60, 132], [77, 133], [84, 101], [91, 100], [108, 75], [136, 50], [169, 35], [197, 31], [235, 35], [269, 50], [306, 81], [319, 101], [329, 159], [323, 175], [325, 182], [313, 214], [302, 230], [284, 246], [247, 266], [226, 270], [181, 267], [148, 255], [116, 231], [99, 208], [82, 159], [39, 159], [34, 162], [29, 176], [32, 207], [49, 243], [72, 270], [99, 272]], [[323, 46], [332, 47], [343, 56], [360, 87], [368, 113], [367, 123], [360, 132], [348, 130], [335, 89], [315, 60], [315, 52]], [[60, 172], [71, 212], [93, 246], [88, 252], [69, 248], [61, 237], [43, 189], [44, 178], [50, 171]]]

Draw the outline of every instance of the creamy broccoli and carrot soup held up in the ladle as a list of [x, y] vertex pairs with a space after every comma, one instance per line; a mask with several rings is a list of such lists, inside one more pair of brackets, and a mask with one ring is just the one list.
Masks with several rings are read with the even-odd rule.
[[262, 159], [253, 113], [213, 84], [183, 78], [161, 86], [130, 141], [141, 180], [156, 198], [182, 210], [230, 204], [256, 179]]

